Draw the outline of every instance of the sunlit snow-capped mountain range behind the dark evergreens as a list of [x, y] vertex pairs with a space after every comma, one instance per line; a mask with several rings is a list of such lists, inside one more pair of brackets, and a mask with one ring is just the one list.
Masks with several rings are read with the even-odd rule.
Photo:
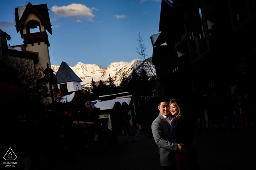
[[[148, 63], [151, 64], [151, 58], [148, 59]], [[52, 65], [52, 70], [57, 72], [60, 66]], [[131, 62], [114, 62], [111, 63], [107, 68], [97, 66], [96, 64], [83, 64], [78, 62], [74, 67], [69, 66], [76, 75], [83, 81], [81, 84], [90, 87], [91, 79], [95, 82], [99, 80], [106, 81], [110, 76], [113, 78], [116, 85], [120, 85], [122, 76], [128, 77], [133, 70], [139, 71], [144, 68], [148, 75], [152, 75], [150, 69], [147, 67], [145, 60], [132, 60]], [[155, 68], [151, 64], [151, 70], [155, 74]]]

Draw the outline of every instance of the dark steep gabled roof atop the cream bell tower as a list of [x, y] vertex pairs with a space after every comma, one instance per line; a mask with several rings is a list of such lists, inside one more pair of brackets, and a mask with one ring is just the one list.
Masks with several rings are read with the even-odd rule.
[[22, 17], [19, 20], [19, 12], [18, 8], [15, 8], [15, 21], [16, 21], [16, 30], [17, 33], [20, 31], [20, 33], [23, 35], [23, 27], [24, 27], [24, 21], [29, 15], [29, 13], [33, 12], [41, 21], [41, 24], [44, 25], [45, 29], [52, 35], [52, 26], [50, 22], [50, 17], [48, 13], [48, 7], [47, 4], [40, 4], [40, 5], [32, 5], [30, 2], [27, 4], [27, 7], [25, 11], [22, 14]]

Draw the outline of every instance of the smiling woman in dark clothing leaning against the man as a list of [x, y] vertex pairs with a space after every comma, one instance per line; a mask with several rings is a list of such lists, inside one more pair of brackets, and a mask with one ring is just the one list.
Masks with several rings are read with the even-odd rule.
[[184, 143], [187, 147], [185, 153], [174, 153], [175, 170], [199, 170], [195, 149], [193, 149], [192, 131], [188, 120], [182, 115], [180, 100], [172, 99], [169, 102], [172, 118], [170, 119], [171, 130], [168, 141], [172, 143]]

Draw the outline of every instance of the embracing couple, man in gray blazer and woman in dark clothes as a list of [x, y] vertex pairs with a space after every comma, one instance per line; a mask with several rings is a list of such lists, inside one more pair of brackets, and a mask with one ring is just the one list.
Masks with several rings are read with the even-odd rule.
[[160, 97], [159, 116], [152, 123], [152, 132], [160, 148], [160, 164], [166, 170], [199, 170], [190, 122], [182, 115], [179, 99]]

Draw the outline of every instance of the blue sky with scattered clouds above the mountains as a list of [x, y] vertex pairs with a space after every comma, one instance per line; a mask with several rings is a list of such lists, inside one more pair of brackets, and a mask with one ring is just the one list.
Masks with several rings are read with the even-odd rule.
[[[23, 44], [16, 33], [15, 9], [29, 1], [0, 2], [0, 29], [11, 35], [8, 43]], [[113, 62], [139, 59], [138, 33], [152, 56], [150, 36], [158, 32], [161, 0], [30, 0], [32, 5], [47, 4], [52, 24], [48, 33], [52, 65], [62, 61], [108, 67]], [[77, 9], [78, 13], [68, 9]], [[60, 12], [61, 11], [61, 12]]]

